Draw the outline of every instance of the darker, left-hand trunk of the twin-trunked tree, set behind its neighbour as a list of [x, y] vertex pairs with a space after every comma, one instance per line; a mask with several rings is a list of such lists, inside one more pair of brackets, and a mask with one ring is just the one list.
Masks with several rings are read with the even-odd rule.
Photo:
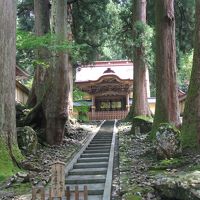
[[[49, 16], [49, 0], [34, 0], [35, 14], [35, 34], [42, 36], [50, 32], [50, 16]], [[26, 123], [37, 124], [39, 127], [45, 128], [46, 119], [44, 115], [45, 97], [48, 93], [49, 63], [50, 52], [47, 49], [41, 48], [36, 51], [37, 59], [42, 60], [44, 65], [37, 65], [34, 74], [33, 86], [27, 101], [29, 107], [34, 107], [32, 112], [27, 116]]]

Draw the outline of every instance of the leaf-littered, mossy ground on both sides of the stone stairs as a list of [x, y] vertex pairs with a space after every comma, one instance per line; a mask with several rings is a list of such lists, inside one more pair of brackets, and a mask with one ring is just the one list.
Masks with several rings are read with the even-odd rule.
[[[57, 159], [69, 162], [98, 124], [99, 122], [93, 122], [74, 126], [71, 130], [73, 137], [65, 138], [62, 146], [43, 147], [36, 155], [27, 157], [27, 165], [34, 164], [36, 171], [22, 174], [28, 173], [29, 178], [32, 177], [31, 182], [13, 176], [0, 183], [0, 200], [30, 200], [32, 184], [48, 184], [49, 164]], [[154, 187], [157, 177], [176, 176], [180, 172], [200, 170], [198, 153], [184, 152], [178, 158], [157, 160], [155, 145], [149, 140], [148, 134], [131, 135], [130, 129], [130, 123], [118, 122], [112, 200], [166, 200], [160, 197], [160, 193]]]

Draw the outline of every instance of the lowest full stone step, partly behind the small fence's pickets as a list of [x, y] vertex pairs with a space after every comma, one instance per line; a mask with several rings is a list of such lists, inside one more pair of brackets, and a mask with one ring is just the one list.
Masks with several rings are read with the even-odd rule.
[[[88, 189], [88, 195], [103, 195], [103, 191], [104, 191], [104, 187], [105, 187], [104, 183], [79, 184], [78, 185], [79, 191], [83, 191], [85, 185], [87, 186], [87, 189]], [[77, 186], [77, 185], [71, 184], [71, 185], [66, 185], [66, 186], [69, 186], [70, 187], [70, 191], [74, 192], [75, 191], [75, 186]]]

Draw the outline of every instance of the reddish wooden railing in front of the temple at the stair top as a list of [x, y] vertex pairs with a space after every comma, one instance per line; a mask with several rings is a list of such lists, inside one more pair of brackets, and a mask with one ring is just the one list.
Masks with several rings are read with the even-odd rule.
[[113, 120], [113, 119], [123, 119], [127, 116], [128, 111], [99, 111], [99, 112], [89, 112], [89, 120]]

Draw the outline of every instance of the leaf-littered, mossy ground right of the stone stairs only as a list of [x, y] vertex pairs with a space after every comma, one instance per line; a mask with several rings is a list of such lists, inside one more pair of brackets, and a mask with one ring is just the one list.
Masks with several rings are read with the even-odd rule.
[[[157, 184], [158, 179], [200, 170], [199, 152], [183, 152], [177, 158], [158, 160], [155, 145], [148, 134], [131, 135], [130, 129], [130, 123], [118, 123], [119, 169], [115, 169], [115, 173], [120, 178], [114, 176], [116, 186], [113, 200], [166, 200], [168, 198], [161, 197], [161, 192], [156, 190], [155, 183]], [[177, 188], [172, 188], [171, 192], [177, 192], [176, 190]]]

